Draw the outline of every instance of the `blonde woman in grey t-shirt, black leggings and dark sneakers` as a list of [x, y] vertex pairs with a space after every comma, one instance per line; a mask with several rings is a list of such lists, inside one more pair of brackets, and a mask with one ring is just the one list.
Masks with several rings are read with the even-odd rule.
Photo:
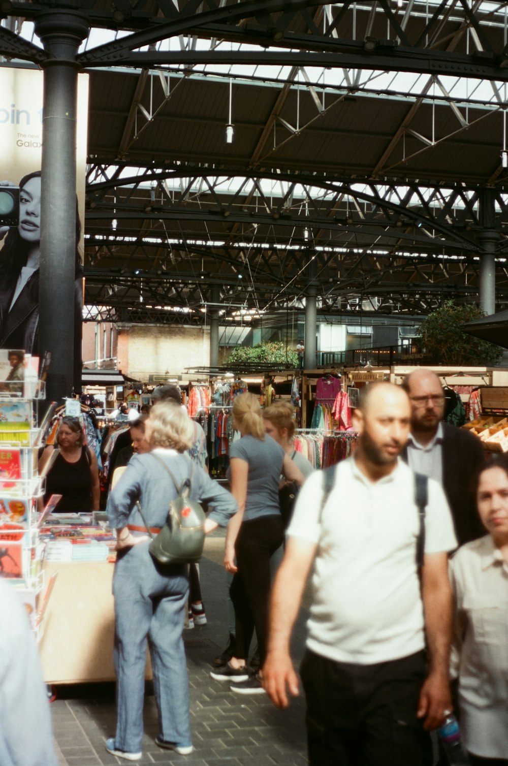
[[238, 512], [228, 525], [225, 568], [234, 574], [231, 601], [236, 617], [234, 656], [211, 672], [218, 681], [234, 682], [234, 692], [262, 693], [259, 673], [249, 678], [245, 660], [254, 627], [264, 663], [270, 594], [270, 556], [283, 541], [279, 509], [279, 480], [303, 483], [303, 475], [280, 444], [265, 435], [261, 408], [253, 394], [240, 394], [234, 400], [233, 417], [241, 439], [231, 446], [231, 493]]

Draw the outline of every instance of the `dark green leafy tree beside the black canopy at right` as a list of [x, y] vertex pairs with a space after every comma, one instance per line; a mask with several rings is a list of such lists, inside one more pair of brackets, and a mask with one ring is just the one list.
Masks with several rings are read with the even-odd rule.
[[450, 367], [491, 365], [503, 355], [499, 345], [470, 336], [460, 325], [485, 316], [477, 306], [457, 306], [447, 300], [419, 327], [418, 349], [431, 355], [438, 365]]

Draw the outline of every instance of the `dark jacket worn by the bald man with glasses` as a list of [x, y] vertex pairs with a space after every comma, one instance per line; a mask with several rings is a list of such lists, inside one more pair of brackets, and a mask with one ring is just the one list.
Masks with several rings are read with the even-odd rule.
[[[454, 517], [455, 534], [459, 545], [487, 534], [476, 507], [476, 498], [470, 483], [482, 463], [485, 451], [478, 437], [464, 428], [443, 423], [443, 489]], [[408, 462], [407, 447], [401, 454]]]

